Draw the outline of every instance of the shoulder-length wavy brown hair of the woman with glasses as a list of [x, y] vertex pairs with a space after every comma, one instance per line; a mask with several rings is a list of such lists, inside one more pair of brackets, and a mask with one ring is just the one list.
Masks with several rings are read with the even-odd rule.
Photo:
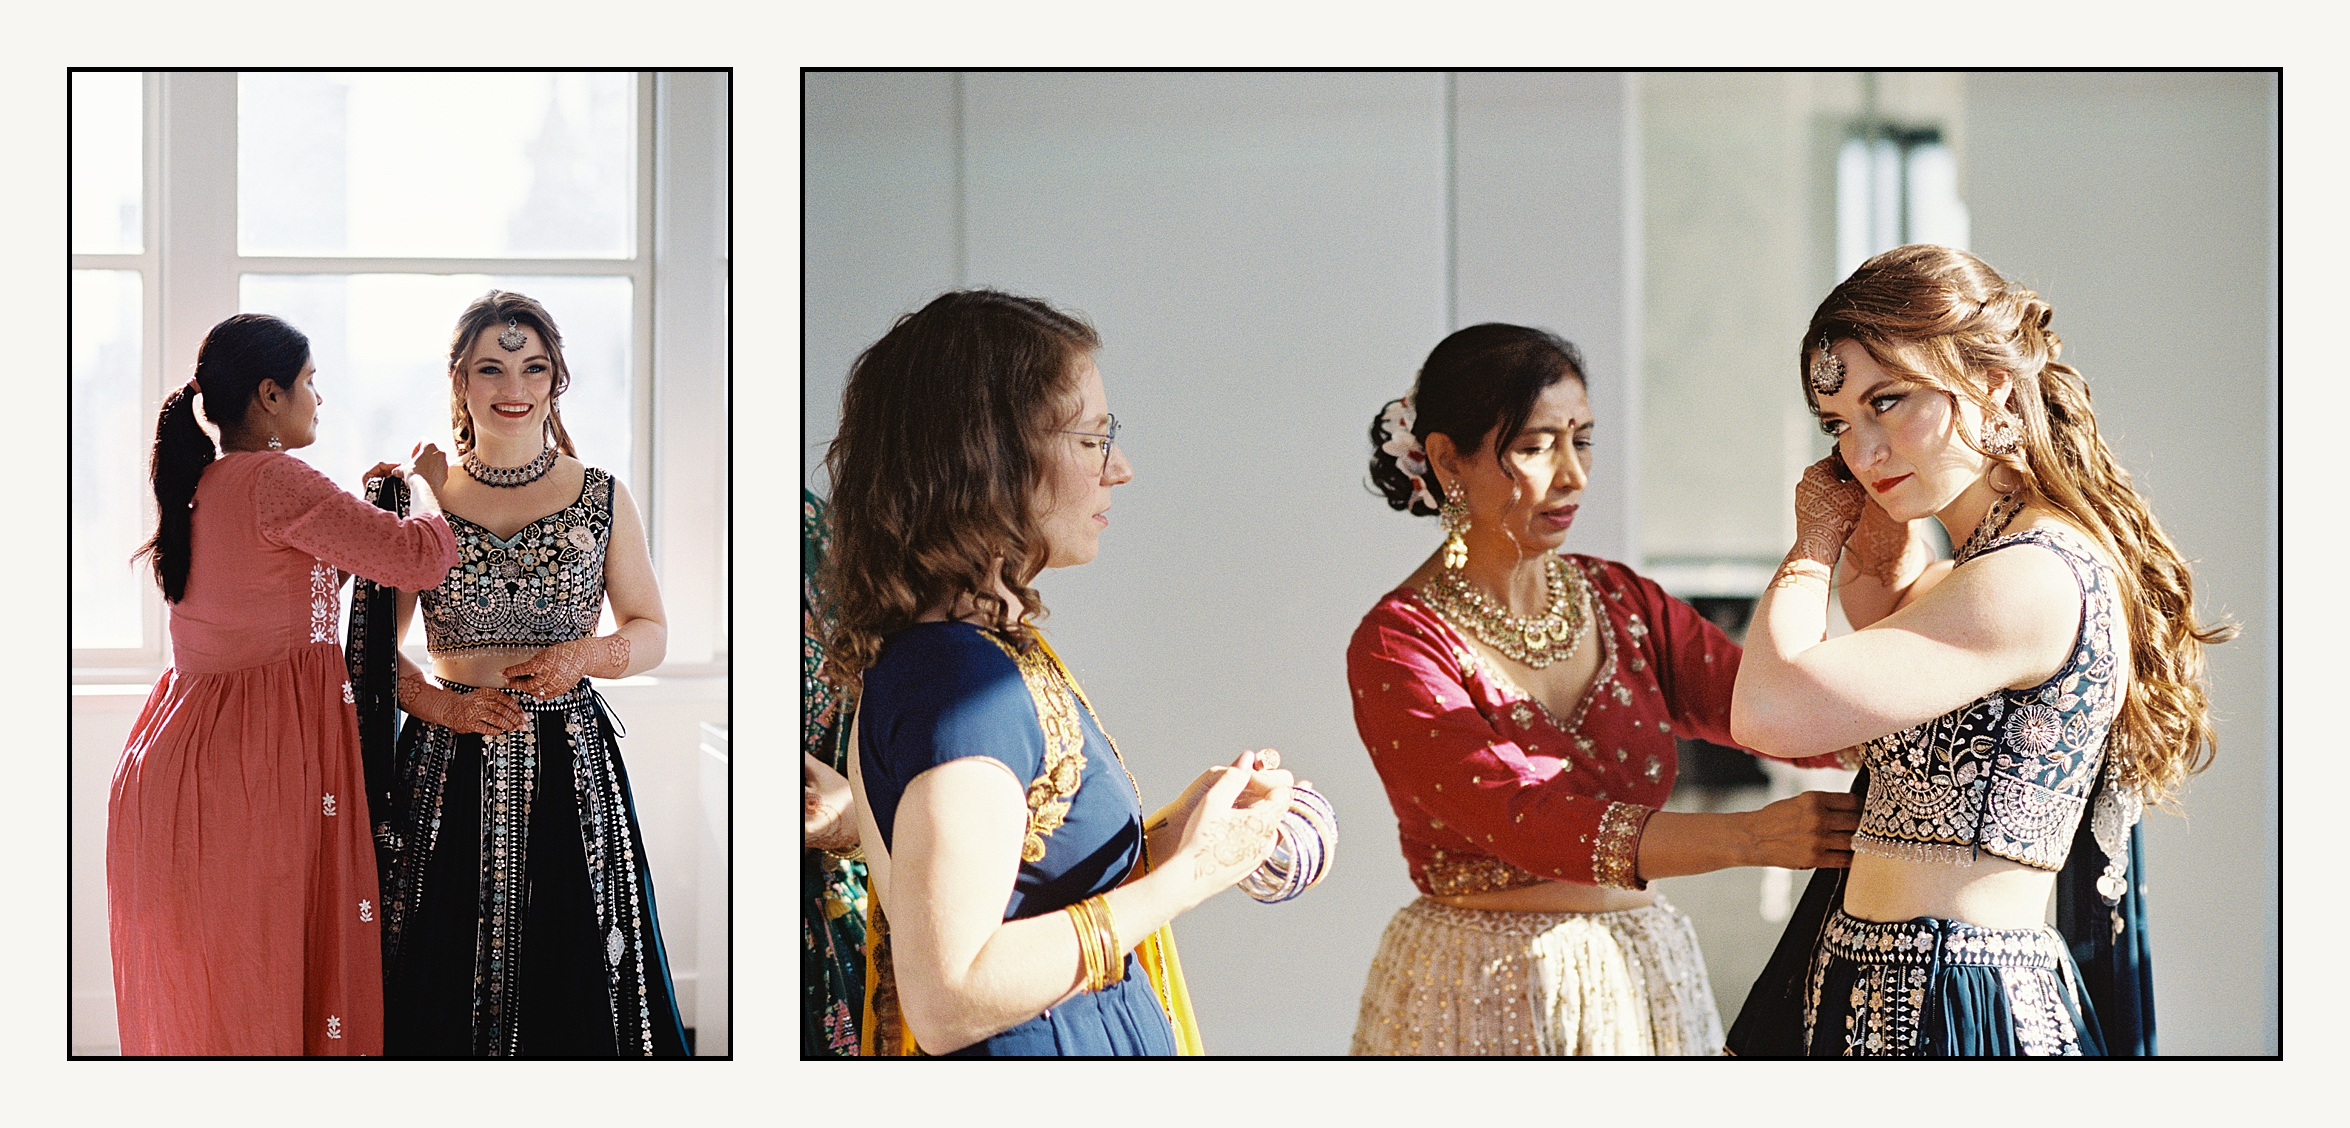
[[1029, 588], [1046, 562], [1034, 508], [1043, 451], [1100, 345], [1090, 324], [1043, 301], [956, 289], [858, 355], [825, 451], [832, 555], [820, 583], [837, 609], [827, 682], [853, 691], [881, 639], [959, 599], [1032, 642], [1029, 623], [1046, 616]]

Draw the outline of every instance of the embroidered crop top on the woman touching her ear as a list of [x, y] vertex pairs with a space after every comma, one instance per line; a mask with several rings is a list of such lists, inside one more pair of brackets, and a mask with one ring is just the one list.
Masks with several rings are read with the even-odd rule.
[[2033, 689], [1995, 689], [1932, 721], [1861, 745], [1868, 799], [1852, 848], [1967, 865], [1990, 853], [2063, 870], [2122, 712], [2122, 623], [2113, 571], [2068, 529], [2026, 529], [1983, 552], [2040, 545], [2080, 583], [2073, 656]]

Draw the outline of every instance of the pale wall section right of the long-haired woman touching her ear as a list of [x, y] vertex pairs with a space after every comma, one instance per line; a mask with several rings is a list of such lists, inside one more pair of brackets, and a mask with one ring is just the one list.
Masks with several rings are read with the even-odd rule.
[[2148, 813], [2164, 1053], [2277, 1053], [2277, 75], [1969, 75], [1974, 249], [2195, 564], [2218, 759]]

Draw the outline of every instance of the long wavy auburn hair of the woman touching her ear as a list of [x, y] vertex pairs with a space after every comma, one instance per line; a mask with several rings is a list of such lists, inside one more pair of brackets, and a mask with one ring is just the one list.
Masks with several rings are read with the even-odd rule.
[[[2153, 508], [2129, 484], [2089, 409], [2089, 381], [2059, 362], [2063, 341], [2040, 294], [2000, 277], [1981, 258], [1950, 247], [1894, 247], [1828, 291], [1795, 352], [1798, 383], [1812, 414], [1819, 397], [1800, 376], [1821, 338], [1852, 338], [1885, 371], [1967, 397], [1995, 418], [1990, 371], [2007, 371], [2007, 414], [2023, 442], [2014, 454], [1986, 454], [2019, 482], [2026, 503], [2044, 505], [2094, 536], [2120, 562], [2120, 599], [2129, 616], [2129, 691], [2108, 752], [2124, 785], [2169, 804], [2188, 776], [2218, 752], [2204, 691], [2207, 644], [2228, 642], [2237, 625], [2195, 620], [2195, 578], [2162, 533]], [[1969, 428], [1960, 439], [1981, 451]]]

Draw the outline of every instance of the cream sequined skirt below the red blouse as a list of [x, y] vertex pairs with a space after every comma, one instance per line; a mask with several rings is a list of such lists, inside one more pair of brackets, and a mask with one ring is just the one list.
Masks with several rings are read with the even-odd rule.
[[1723, 1015], [1690, 916], [1488, 912], [1419, 898], [1386, 924], [1356, 1055], [1716, 1055]]

